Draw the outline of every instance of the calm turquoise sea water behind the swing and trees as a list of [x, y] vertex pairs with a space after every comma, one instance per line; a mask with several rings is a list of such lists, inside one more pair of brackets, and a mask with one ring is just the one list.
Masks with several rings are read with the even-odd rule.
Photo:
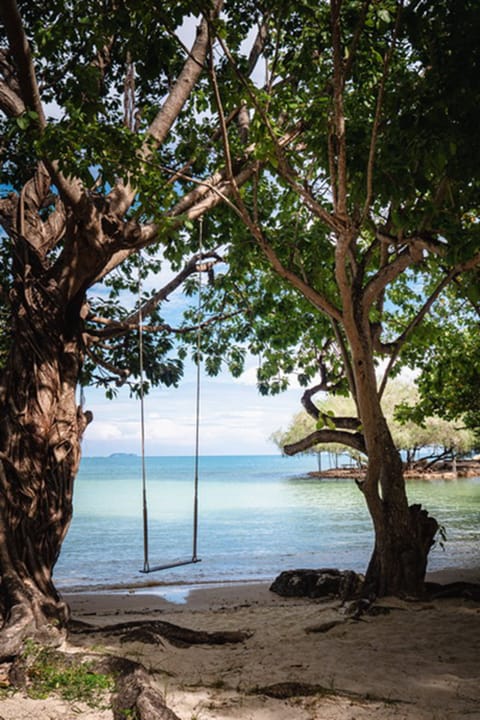
[[[74, 519], [55, 568], [63, 590], [270, 580], [299, 567], [363, 571], [371, 522], [352, 480], [318, 479], [312, 457], [200, 458], [199, 537], [195, 565], [145, 575], [140, 458], [84, 458]], [[147, 458], [150, 565], [192, 555], [194, 460]], [[480, 562], [480, 478], [410, 481], [420, 502], [445, 527], [431, 570]]]

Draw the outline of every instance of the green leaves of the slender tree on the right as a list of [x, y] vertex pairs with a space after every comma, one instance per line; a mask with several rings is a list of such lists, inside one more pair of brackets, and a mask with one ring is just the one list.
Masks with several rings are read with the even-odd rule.
[[[293, 376], [301, 385], [314, 382], [319, 356], [328, 363], [333, 384], [343, 371], [346, 392], [345, 356], [338, 342], [329, 342], [331, 317], [346, 302], [359, 307], [373, 281], [379, 284], [386, 277], [387, 267], [391, 277], [370, 302], [368, 320], [376, 362], [392, 357], [387, 373], [397, 374], [415, 347], [436, 342], [438, 333], [425, 313], [435, 310], [449, 282], [468, 282], [478, 261], [480, 158], [473, 122], [480, 96], [478, 48], [473, 48], [478, 17], [469, 2], [460, 3], [455, 12], [448, 3], [407, 5], [396, 30], [397, 10], [398, 5], [387, 2], [342, 4], [342, 50], [345, 62], [352, 61], [343, 92], [345, 195], [354, 226], [351, 257], [345, 261], [350, 286], [342, 297], [335, 271], [340, 243], [333, 228], [332, 162], [338, 162], [338, 154], [328, 4], [305, 3], [291, 14], [274, 7], [268, 45], [271, 90], [243, 89], [256, 155], [268, 163], [271, 175], [253, 190], [242, 189], [237, 212], [250, 231], [254, 226], [257, 241], [238, 226], [227, 226], [235, 233], [234, 247], [225, 255], [229, 277], [211, 299], [219, 308], [230, 283], [248, 303], [250, 333], [242, 320], [226, 324], [212, 334], [210, 351], [219, 363], [232, 336], [248, 338], [249, 350], [261, 351], [261, 392], [277, 392]], [[472, 46], [472, 72], [463, 72], [462, 34]], [[355, 55], [349, 55], [356, 42]], [[459, 93], [465, 102], [459, 102]], [[278, 137], [286, 112], [288, 126], [298, 123], [302, 133], [297, 144], [284, 150]], [[223, 223], [224, 211], [218, 212]], [[407, 263], [409, 245], [415, 259]], [[272, 258], [282, 279], [269, 273]], [[396, 272], [401, 262], [405, 267]], [[230, 333], [229, 340], [221, 339], [223, 331]], [[345, 342], [341, 328], [340, 335]], [[346, 341], [347, 364], [348, 345]]]

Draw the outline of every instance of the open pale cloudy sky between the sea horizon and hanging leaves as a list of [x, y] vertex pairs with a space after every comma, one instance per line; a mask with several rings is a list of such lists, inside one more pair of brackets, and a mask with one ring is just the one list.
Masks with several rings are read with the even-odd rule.
[[[227, 373], [200, 380], [201, 455], [271, 455], [269, 439], [301, 410], [302, 390], [292, 387], [274, 397], [256, 388], [256, 367], [238, 379]], [[189, 370], [178, 388], [157, 388], [145, 398], [145, 454], [193, 455], [195, 452], [196, 373]], [[141, 452], [140, 401], [122, 390], [107, 400], [100, 389], [85, 389], [85, 409], [93, 412], [83, 440], [85, 456]]]

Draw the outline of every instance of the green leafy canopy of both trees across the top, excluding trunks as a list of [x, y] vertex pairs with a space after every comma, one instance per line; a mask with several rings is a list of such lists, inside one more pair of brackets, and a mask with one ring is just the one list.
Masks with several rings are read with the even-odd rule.
[[[198, 3], [194, 9], [201, 13], [206, 7]], [[226, 116], [236, 112], [242, 103], [249, 110], [251, 158], [269, 169], [242, 188], [242, 202], [257, 218], [282, 265], [338, 306], [331, 228], [325, 217], [312, 212], [311, 203], [292, 182], [293, 177], [303, 177], [315, 203], [332, 212], [335, 58], [328, 3], [303, 3], [295, 10], [281, 1], [270, 3], [268, 10], [262, 3], [227, 3], [225, 18], [212, 23], [218, 35], [213, 72], [222, 105], [218, 107], [208, 73], [200, 76], [168, 142], [153, 145], [148, 162], [142, 160], [142, 148], [152, 140], [152, 120], [185, 61], [180, 28], [191, 4], [175, 1], [152, 8], [145, 2], [113, 6], [82, 0], [74, 5], [52, 2], [44, 11], [22, 2], [20, 10], [38, 58], [42, 99], [52, 109], [42, 132], [33, 109], [1, 120], [6, 139], [1, 148], [4, 187], [21, 189], [39, 158], [54, 157], [60, 169], [80, 178], [101, 205], [118, 178], [128, 174], [136, 187], [128, 217], [159, 225], [156, 242], [143, 251], [141, 267], [136, 255], [129, 255], [102, 286], [93, 288], [86, 335], [91, 352], [83, 369], [84, 383], [104, 385], [114, 394], [116, 385], [131, 378], [130, 387], [138, 392], [137, 338], [123, 333], [105, 339], [105, 323], [122, 323], [140, 306], [140, 276], [156, 289], [162, 268], [169, 272], [172, 264], [178, 270], [188, 253], [198, 249], [198, 228], [187, 218], [180, 224], [174, 221], [173, 209], [198, 182], [222, 167], [225, 138], [218, 130], [212, 135], [213, 118], [219, 111]], [[391, 1], [351, 1], [341, 10], [341, 44], [350, 73], [344, 88], [348, 212], [352, 217], [362, 215], [365, 206], [356, 242], [365, 282], [381, 262], [380, 246], [374, 241], [378, 228], [392, 237], [417, 231], [426, 240], [443, 235], [450, 243], [443, 263], [468, 258], [478, 245], [479, 228], [472, 220], [480, 165], [473, 140], [480, 75], [477, 14], [471, 2], [457, 4], [455, 12], [443, 2], [407, 4], [397, 30], [397, 10]], [[253, 81], [246, 69], [245, 38], [255, 22], [264, 26], [268, 71]], [[375, 130], [377, 112], [381, 122]], [[297, 124], [302, 141], [291, 144], [285, 156], [278, 141]], [[236, 123], [228, 125], [227, 134], [231, 155], [244, 153]], [[369, 167], [372, 149], [375, 162]], [[175, 170], [180, 172], [172, 182]], [[53, 194], [45, 215], [53, 212], [54, 203]], [[2, 242], [4, 267], [9, 268], [9, 241]], [[228, 268], [205, 293], [203, 321], [209, 332], [202, 350], [207, 372], [215, 374], [226, 366], [238, 375], [248, 351], [261, 357], [260, 392], [279, 392], [292, 373], [306, 386], [318, 370], [319, 349], [332, 335], [329, 321], [299, 295], [298, 288], [292, 290], [288, 280], [271, 274], [258, 243], [248, 228], [240, 227], [231, 209], [219, 208], [205, 220], [203, 243], [206, 251], [220, 252]], [[54, 252], [61, 247], [59, 243]], [[389, 252], [393, 259], [393, 248]], [[441, 272], [430, 253], [423, 267], [412, 266], [386, 288], [389, 304], [383, 304], [382, 312], [379, 303], [370, 311], [372, 322], [382, 323], [385, 340], [401, 335], [414, 320], [434, 289], [429, 281], [434, 277], [441, 277]], [[2, 280], [8, 325], [11, 275]], [[412, 292], [416, 303], [409, 300]], [[142, 302], [154, 294], [155, 290], [144, 292]], [[172, 323], [164, 305], [159, 303], [148, 318], [148, 325], [159, 330], [144, 338], [144, 389], [177, 384], [187, 353], [177, 340], [180, 346], [195, 346], [194, 334], [187, 332], [198, 321], [194, 303], [180, 332], [179, 316]], [[220, 315], [225, 320], [214, 327], [211, 318]], [[102, 318], [100, 325], [97, 317]], [[3, 339], [8, 342], [8, 334]], [[329, 353], [329, 362], [338, 380], [338, 348]]]

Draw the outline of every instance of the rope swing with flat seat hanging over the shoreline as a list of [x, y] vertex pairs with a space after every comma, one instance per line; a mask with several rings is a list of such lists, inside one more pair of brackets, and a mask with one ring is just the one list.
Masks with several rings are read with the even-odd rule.
[[[203, 223], [200, 218], [200, 241], [199, 250], [200, 257], [202, 254], [202, 229]], [[210, 271], [210, 267], [206, 268], [201, 261], [197, 264], [198, 272], [198, 310], [201, 309], [202, 303], [202, 272], [205, 269]], [[141, 294], [140, 280], [139, 293]], [[144, 408], [144, 367], [143, 367], [143, 318], [141, 311], [141, 303], [139, 304], [138, 313], [138, 350], [140, 362], [140, 428], [141, 428], [141, 459], [142, 459], [142, 516], [143, 516], [143, 568], [141, 573], [151, 573], [160, 570], [169, 570], [170, 568], [181, 567], [183, 565], [193, 565], [201, 562], [201, 558], [197, 555], [198, 541], [198, 461], [199, 461], [199, 439], [200, 439], [200, 348], [201, 348], [201, 328], [200, 324], [197, 329], [197, 375], [196, 375], [196, 393], [195, 393], [195, 464], [193, 478], [193, 528], [192, 528], [192, 555], [186, 560], [174, 560], [172, 562], [162, 563], [160, 565], [150, 565], [149, 558], [149, 540], [148, 540], [148, 498], [147, 498], [147, 473], [145, 466], [145, 408]]]

